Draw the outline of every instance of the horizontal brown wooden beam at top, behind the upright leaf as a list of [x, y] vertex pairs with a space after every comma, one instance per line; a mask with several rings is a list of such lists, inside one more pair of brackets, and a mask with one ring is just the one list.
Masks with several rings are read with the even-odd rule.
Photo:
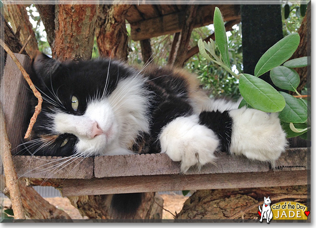
[[[213, 23], [215, 6], [221, 9], [224, 20], [240, 19], [239, 5], [204, 5], [198, 9], [199, 13], [194, 19], [194, 28]], [[185, 21], [184, 15], [185, 11], [181, 11], [158, 18], [130, 23], [131, 38], [133, 40], [141, 40], [180, 32]]]

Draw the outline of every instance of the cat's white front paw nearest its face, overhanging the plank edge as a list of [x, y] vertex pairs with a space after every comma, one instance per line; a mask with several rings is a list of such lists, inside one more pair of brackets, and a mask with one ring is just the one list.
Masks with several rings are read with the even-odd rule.
[[161, 153], [173, 161], [181, 161], [181, 171], [194, 165], [214, 163], [214, 152], [219, 146], [215, 133], [198, 124], [198, 116], [178, 117], [163, 128], [159, 140]]

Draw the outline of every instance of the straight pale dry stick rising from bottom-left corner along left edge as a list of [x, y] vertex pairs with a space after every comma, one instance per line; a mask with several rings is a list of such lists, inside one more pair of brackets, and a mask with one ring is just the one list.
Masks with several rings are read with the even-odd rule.
[[24, 209], [21, 201], [21, 194], [18, 188], [18, 175], [14, 169], [11, 144], [9, 142], [2, 107], [0, 107], [0, 155], [3, 163], [3, 171], [7, 188], [10, 192], [12, 209], [15, 219], [25, 219]]

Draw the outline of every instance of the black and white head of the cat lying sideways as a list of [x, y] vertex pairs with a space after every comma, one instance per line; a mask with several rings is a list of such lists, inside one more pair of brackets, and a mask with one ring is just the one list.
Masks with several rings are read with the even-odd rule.
[[121, 131], [118, 102], [125, 99], [126, 88], [118, 86], [135, 72], [109, 59], [59, 62], [43, 54], [32, 66], [31, 78], [43, 104], [24, 151], [51, 156], [104, 154]]

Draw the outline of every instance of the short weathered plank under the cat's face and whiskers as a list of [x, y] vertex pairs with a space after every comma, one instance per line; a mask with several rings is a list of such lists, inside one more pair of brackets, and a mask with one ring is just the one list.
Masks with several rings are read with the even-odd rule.
[[90, 179], [93, 177], [93, 158], [14, 156], [19, 177]]

